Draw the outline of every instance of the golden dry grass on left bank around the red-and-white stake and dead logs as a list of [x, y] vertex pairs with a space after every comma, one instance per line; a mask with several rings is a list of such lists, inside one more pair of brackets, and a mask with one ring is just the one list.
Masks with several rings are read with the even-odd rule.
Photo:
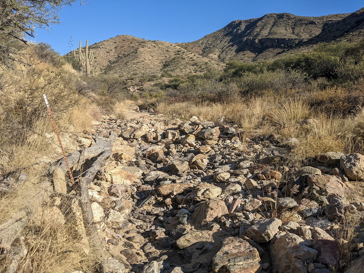
[[[27, 256], [14, 272], [93, 272], [98, 261], [92, 250], [88, 254], [84, 251], [87, 239], [85, 242], [76, 229], [76, 215], [70, 210], [71, 205], [66, 204], [66, 209], [59, 210], [53, 205], [53, 199], [46, 199], [40, 207], [28, 205], [41, 183], [48, 179], [47, 162], [60, 158], [43, 92], [53, 102], [51, 108], [61, 138], [68, 132], [73, 134], [92, 128], [92, 121], [101, 118], [102, 109], [68, 89], [72, 84], [64, 81], [71, 80], [67, 74], [73, 72], [70, 67], [56, 70], [51, 64], [37, 63], [33, 68], [36, 70], [33, 74], [0, 69], [0, 177], [13, 171], [17, 175], [24, 173], [26, 177], [18, 183], [14, 174], [9, 192], [1, 193], [0, 225], [24, 207], [35, 213], [21, 233]], [[66, 91], [72, 93], [69, 98]], [[38, 114], [29, 114], [31, 118], [25, 119], [24, 109], [30, 108]], [[4, 272], [10, 263], [11, 255], [1, 256], [0, 272]]]

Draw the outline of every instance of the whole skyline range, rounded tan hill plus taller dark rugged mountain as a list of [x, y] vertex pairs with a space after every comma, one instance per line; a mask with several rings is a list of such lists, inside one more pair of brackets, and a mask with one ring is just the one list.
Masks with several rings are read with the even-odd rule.
[[320, 42], [364, 39], [364, 8], [320, 17], [269, 13], [236, 20], [190, 43], [171, 44], [119, 35], [90, 46], [92, 68], [120, 76], [191, 75], [229, 60], [256, 62], [312, 50]]

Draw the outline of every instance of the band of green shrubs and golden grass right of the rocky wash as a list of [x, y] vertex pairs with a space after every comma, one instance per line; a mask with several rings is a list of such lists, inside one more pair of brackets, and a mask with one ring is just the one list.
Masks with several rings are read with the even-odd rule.
[[155, 107], [186, 119], [224, 117], [252, 135], [302, 139], [297, 159], [362, 153], [363, 45], [320, 44], [272, 62], [232, 61], [224, 71], [157, 82], [153, 91], [163, 98]]

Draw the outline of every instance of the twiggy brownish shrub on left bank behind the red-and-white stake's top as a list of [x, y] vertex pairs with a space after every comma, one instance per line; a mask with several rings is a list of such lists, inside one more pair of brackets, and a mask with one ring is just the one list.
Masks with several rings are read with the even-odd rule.
[[26, 128], [48, 115], [43, 94], [54, 117], [60, 118], [76, 104], [74, 76], [63, 70], [30, 70], [27, 76], [0, 71], [1, 133], [12, 139], [24, 139]]

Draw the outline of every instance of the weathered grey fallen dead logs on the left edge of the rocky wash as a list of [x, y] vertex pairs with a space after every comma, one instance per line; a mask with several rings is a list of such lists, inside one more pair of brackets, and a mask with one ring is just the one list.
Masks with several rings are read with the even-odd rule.
[[[67, 160], [70, 166], [80, 166], [86, 160], [96, 158], [90, 168], [82, 175], [79, 179], [81, 207], [83, 211], [83, 221], [86, 228], [86, 233], [90, 240], [90, 245], [98, 251], [99, 258], [103, 264], [106, 265], [106, 251], [101, 245], [101, 240], [98, 236], [98, 229], [93, 222], [94, 215], [91, 209], [90, 197], [88, 195], [88, 186], [94, 179], [96, 173], [103, 167], [112, 155], [112, 143], [116, 135], [111, 132], [111, 136], [108, 139], [102, 139], [96, 137], [95, 145], [84, 149], [83, 151], [76, 151], [71, 155], [68, 155]], [[57, 162], [55, 165], [50, 167], [50, 173], [53, 173], [55, 169], [60, 169], [66, 174], [67, 166], [64, 159]], [[4, 193], [11, 193], [9, 189], [2, 189]], [[71, 197], [66, 192], [56, 193], [53, 190], [53, 186], [49, 181], [46, 181], [41, 185], [39, 190], [35, 191], [34, 196], [25, 203], [23, 209], [14, 214], [10, 219], [0, 225], [0, 253], [8, 252], [16, 238], [19, 237], [24, 227], [27, 226], [29, 220], [35, 213], [35, 210], [40, 207], [46, 198], [59, 194], [60, 196]], [[76, 197], [75, 197], [76, 198]]]

